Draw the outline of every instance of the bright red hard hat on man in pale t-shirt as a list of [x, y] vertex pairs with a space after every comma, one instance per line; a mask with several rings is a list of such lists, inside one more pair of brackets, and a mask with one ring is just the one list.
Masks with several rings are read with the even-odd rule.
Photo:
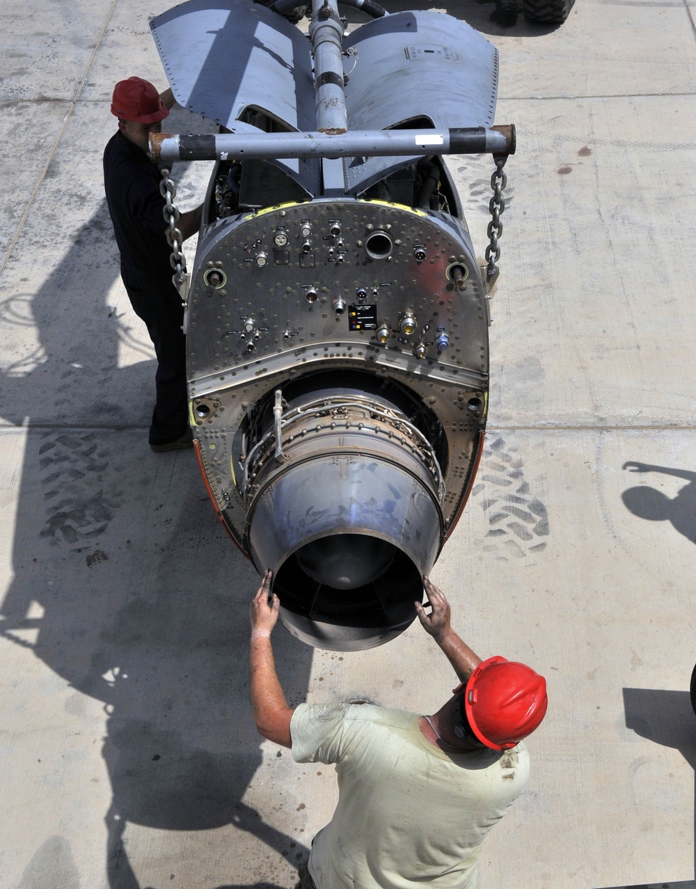
[[544, 718], [546, 679], [525, 664], [489, 658], [468, 677], [464, 707], [478, 740], [494, 750], [507, 750]]

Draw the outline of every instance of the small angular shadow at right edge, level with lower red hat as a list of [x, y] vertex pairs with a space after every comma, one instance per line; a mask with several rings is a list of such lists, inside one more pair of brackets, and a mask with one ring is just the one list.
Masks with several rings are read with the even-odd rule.
[[[688, 692], [624, 688], [623, 702], [628, 729], [662, 747], [678, 750], [696, 771], [696, 717]], [[696, 801], [694, 812], [696, 813]], [[658, 882], [654, 885], [662, 889], [696, 889], [693, 880]], [[650, 889], [651, 886], [652, 884], [640, 884], [639, 887], [627, 886], [626, 889]]]

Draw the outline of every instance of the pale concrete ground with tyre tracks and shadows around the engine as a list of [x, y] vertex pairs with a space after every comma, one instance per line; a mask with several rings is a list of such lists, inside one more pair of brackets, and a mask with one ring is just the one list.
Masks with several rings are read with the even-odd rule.
[[[488, 445], [434, 578], [475, 650], [528, 661], [550, 700], [479, 886], [693, 887], [694, 7], [578, 0], [543, 28], [512, 0], [436, 3], [500, 48], [519, 141]], [[193, 454], [147, 446], [153, 354], [100, 157], [116, 80], [166, 85], [168, 5], [0, 16], [0, 889], [286, 889], [335, 801], [332, 767], [256, 735], [256, 575]], [[490, 160], [453, 168], [483, 253]], [[194, 205], [205, 170], [177, 176]], [[430, 712], [452, 688], [418, 624], [345, 655], [280, 628], [276, 653], [292, 703]]]

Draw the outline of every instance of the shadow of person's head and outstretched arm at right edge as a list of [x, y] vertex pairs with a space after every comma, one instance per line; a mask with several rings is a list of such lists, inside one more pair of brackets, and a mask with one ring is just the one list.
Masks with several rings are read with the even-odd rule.
[[636, 461], [624, 463], [623, 469], [628, 472], [659, 472], [666, 476], [683, 478], [688, 483], [676, 497], [668, 497], [650, 485], [636, 485], [624, 491], [621, 500], [634, 516], [649, 522], [671, 522], [676, 531], [696, 543], [696, 472]]

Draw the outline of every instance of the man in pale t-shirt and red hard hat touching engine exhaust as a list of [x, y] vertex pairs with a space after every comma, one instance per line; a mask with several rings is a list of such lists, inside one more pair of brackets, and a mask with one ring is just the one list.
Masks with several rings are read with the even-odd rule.
[[[475, 889], [484, 837], [522, 793], [522, 739], [546, 713], [546, 682], [524, 664], [481, 659], [450, 626], [428, 578], [423, 628], [460, 679], [431, 716], [370, 703], [288, 707], [270, 635], [279, 602], [271, 575], [252, 600], [250, 686], [263, 737], [300, 763], [335, 763], [339, 802], [312, 844], [298, 889]], [[428, 607], [428, 605], [426, 605]]]

